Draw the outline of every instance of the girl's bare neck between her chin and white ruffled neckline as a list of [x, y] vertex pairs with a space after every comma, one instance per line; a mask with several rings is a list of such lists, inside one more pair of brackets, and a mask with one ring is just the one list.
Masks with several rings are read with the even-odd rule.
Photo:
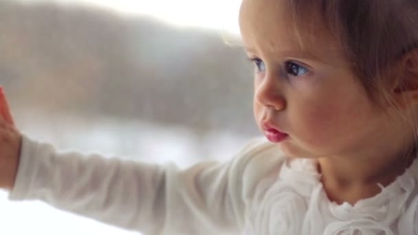
[[[376, 148], [375, 148], [376, 149]], [[360, 199], [373, 197], [404, 173], [415, 159], [414, 151], [364, 151], [361, 155], [329, 156], [318, 159], [322, 184], [331, 201], [354, 204]], [[409, 156], [408, 156], [408, 153]], [[362, 157], [353, 157], [362, 156]]]

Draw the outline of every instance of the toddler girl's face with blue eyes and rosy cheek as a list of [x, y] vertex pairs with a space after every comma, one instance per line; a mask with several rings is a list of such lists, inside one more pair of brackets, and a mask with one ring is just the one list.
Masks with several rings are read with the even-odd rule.
[[267, 134], [267, 124], [287, 133], [281, 148], [293, 157], [353, 155], [376, 139], [383, 145], [393, 126], [353, 75], [338, 41], [314, 23], [315, 34], [301, 35], [314, 46], [302, 51], [281, 2], [241, 6], [243, 43], [256, 58], [254, 116], [261, 131]]

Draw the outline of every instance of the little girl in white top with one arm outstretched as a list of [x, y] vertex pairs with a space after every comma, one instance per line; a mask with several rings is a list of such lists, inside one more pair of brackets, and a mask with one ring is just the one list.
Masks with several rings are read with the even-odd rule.
[[0, 187], [145, 234], [418, 234], [417, 12], [411, 0], [243, 0], [270, 142], [186, 170], [58, 153], [3, 104]]

